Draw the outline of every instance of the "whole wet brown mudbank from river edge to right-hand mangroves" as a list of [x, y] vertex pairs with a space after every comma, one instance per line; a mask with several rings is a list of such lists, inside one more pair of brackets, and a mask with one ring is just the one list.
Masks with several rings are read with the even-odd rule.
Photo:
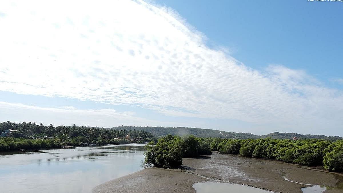
[[[93, 192], [195, 192], [192, 187], [194, 183], [214, 179], [273, 192], [301, 193], [301, 188], [310, 186], [289, 182], [283, 177], [299, 183], [323, 186], [335, 186], [339, 182], [332, 173], [309, 170], [296, 164], [216, 152], [208, 157], [184, 158], [183, 166], [186, 169], [143, 169], [100, 184]], [[343, 190], [325, 191], [335, 192]]]

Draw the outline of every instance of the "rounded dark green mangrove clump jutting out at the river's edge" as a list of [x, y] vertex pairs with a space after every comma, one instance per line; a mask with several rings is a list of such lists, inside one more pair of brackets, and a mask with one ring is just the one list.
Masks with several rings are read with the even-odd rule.
[[207, 141], [192, 135], [184, 138], [167, 135], [160, 138], [156, 145], [152, 141], [145, 147], [145, 164], [159, 168], [178, 167], [181, 166], [183, 157], [211, 153], [210, 144]]

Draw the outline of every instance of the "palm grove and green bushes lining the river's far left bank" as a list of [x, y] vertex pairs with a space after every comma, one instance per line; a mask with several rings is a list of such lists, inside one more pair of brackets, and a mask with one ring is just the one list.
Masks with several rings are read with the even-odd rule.
[[[46, 126], [43, 123], [0, 123], [0, 133], [8, 129], [16, 129], [12, 137], [0, 137], [0, 151], [17, 151], [20, 149], [58, 148], [61, 146], [83, 146], [89, 144], [129, 144], [126, 137], [138, 138], [136, 143], [157, 139], [151, 133], [138, 130], [105, 129], [86, 126]], [[29, 145], [27, 145], [29, 144]], [[37, 145], [38, 144], [38, 145]], [[40, 144], [40, 145], [39, 145]]]

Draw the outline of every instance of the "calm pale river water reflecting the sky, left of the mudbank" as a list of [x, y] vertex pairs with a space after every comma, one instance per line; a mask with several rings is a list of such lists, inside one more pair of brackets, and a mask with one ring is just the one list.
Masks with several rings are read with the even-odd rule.
[[91, 192], [142, 169], [144, 145], [104, 145], [0, 155], [0, 192]]

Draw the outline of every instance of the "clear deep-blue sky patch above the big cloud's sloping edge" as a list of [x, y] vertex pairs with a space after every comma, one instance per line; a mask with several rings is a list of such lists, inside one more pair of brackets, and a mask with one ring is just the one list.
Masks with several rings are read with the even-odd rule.
[[209, 46], [226, 47], [246, 66], [261, 70], [283, 64], [331, 86], [328, 78], [342, 78], [342, 2], [155, 2], [173, 8], [208, 37]]

